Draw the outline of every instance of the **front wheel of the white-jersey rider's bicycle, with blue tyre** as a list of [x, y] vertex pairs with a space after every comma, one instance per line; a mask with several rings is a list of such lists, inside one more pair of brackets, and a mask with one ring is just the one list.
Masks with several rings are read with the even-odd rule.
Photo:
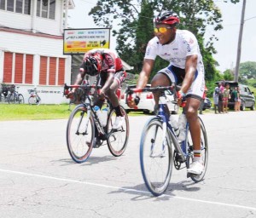
[[148, 190], [159, 196], [166, 191], [172, 175], [172, 133], [164, 133], [160, 118], [145, 124], [140, 142], [140, 163]]

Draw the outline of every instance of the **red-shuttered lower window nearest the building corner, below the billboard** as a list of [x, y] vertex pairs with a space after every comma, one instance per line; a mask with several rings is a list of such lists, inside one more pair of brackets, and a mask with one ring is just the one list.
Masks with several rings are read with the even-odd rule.
[[40, 85], [63, 85], [65, 80], [65, 59], [40, 57]]

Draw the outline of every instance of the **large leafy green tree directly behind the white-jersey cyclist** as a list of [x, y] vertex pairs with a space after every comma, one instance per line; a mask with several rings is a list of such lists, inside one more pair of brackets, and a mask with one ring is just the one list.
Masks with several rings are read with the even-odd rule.
[[[146, 44], [154, 36], [152, 22], [154, 13], [159, 13], [162, 9], [172, 9], [177, 12], [181, 20], [178, 28], [187, 29], [195, 34], [204, 58], [207, 79], [212, 80], [217, 73], [215, 69], [217, 63], [212, 58], [212, 54], [216, 53], [213, 42], [218, 38], [212, 35], [207, 42], [204, 42], [204, 35], [207, 26], [212, 26], [214, 31], [223, 28], [221, 13], [213, 0], [99, 0], [89, 14], [99, 26], [113, 27], [113, 21], [117, 22], [117, 26], [120, 27], [113, 30], [113, 36], [117, 36], [116, 49], [120, 57], [134, 66], [135, 72], [139, 72], [143, 66]], [[166, 66], [163, 60], [156, 60], [154, 72], [163, 66]]]

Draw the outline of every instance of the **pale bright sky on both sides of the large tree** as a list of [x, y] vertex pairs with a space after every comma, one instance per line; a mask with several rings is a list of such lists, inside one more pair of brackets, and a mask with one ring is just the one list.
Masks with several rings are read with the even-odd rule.
[[[90, 9], [96, 5], [97, 0], [73, 0], [76, 8], [69, 11], [68, 26], [72, 28], [96, 28], [92, 18], [88, 16]], [[224, 29], [215, 32], [218, 42], [214, 43], [218, 54], [214, 54], [218, 61], [218, 70], [236, 66], [236, 53], [241, 23], [241, 3], [224, 3], [223, 0], [214, 0], [223, 14]], [[241, 43], [241, 62], [256, 61], [256, 0], [247, 0], [245, 23]], [[212, 34], [207, 30], [207, 36]], [[110, 49], [115, 49], [115, 38], [111, 37]]]

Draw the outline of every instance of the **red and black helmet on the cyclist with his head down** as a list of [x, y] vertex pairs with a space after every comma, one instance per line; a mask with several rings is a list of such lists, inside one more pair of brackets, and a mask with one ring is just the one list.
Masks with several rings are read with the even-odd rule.
[[84, 58], [84, 72], [96, 76], [102, 70], [102, 54], [92, 54]]

